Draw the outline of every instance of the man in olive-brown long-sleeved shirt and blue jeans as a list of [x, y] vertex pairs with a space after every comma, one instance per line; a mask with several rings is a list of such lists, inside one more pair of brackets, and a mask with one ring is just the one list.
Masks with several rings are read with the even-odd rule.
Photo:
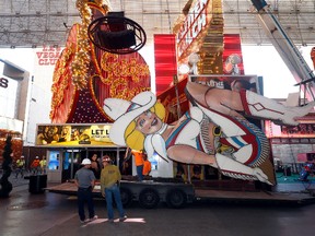
[[112, 165], [108, 155], [103, 156], [102, 163], [104, 168], [101, 172], [101, 192], [106, 199], [108, 222], [114, 222], [113, 196], [119, 212], [119, 222], [124, 222], [127, 216], [121, 203], [119, 191], [119, 181], [121, 179], [120, 172], [117, 166]]

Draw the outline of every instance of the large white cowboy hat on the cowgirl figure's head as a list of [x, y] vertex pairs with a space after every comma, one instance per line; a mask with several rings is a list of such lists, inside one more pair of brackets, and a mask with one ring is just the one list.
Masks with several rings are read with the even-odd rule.
[[145, 91], [136, 95], [130, 102], [120, 98], [104, 99], [104, 111], [113, 119], [109, 138], [117, 145], [127, 145], [125, 131], [129, 123], [156, 103], [155, 95]]

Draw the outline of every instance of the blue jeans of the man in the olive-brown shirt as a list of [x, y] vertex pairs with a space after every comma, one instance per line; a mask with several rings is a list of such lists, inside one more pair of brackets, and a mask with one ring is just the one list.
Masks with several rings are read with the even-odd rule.
[[113, 196], [117, 205], [117, 210], [119, 212], [119, 217], [124, 217], [125, 211], [124, 211], [122, 203], [121, 203], [119, 187], [117, 184], [115, 184], [114, 186], [109, 188], [105, 188], [105, 198], [106, 198], [106, 203], [107, 203], [108, 220], [114, 220]]

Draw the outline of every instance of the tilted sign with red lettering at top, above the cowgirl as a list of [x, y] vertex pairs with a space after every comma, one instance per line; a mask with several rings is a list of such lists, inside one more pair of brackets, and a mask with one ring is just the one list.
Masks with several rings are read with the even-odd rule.
[[187, 54], [189, 47], [192, 48], [194, 44], [197, 44], [197, 38], [200, 36], [200, 33], [203, 32], [207, 24], [209, 24], [210, 16], [207, 15], [209, 2], [210, 0], [197, 1], [187, 14], [186, 21], [177, 34], [177, 50], [179, 58], [184, 56], [184, 52]]

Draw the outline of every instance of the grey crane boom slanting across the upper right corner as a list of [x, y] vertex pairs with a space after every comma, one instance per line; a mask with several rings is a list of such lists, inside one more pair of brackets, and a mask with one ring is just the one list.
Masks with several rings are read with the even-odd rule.
[[314, 101], [315, 76], [303, 56], [287, 35], [278, 19], [272, 14], [265, 0], [252, 0], [257, 10], [256, 19], [271, 40], [273, 47], [293, 74], [296, 85], [304, 85], [305, 95]]

